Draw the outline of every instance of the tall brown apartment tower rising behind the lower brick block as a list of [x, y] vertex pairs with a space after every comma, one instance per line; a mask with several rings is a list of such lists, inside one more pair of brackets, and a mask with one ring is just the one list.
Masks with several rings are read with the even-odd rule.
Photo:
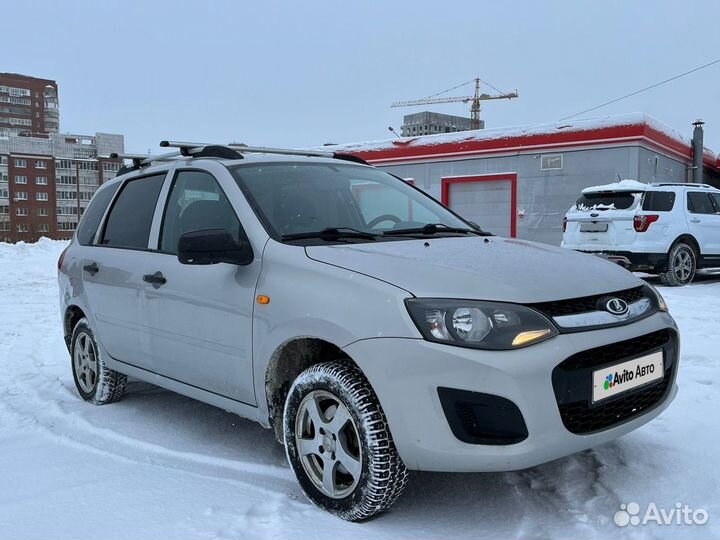
[[60, 131], [57, 83], [17, 73], [0, 73], [0, 135]]

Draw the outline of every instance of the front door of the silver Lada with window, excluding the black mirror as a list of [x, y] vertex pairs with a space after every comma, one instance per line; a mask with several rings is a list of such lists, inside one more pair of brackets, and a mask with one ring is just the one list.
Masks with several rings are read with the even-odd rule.
[[236, 240], [245, 236], [210, 173], [176, 172], [158, 251], [143, 270], [164, 279], [164, 283], [145, 283], [153, 371], [255, 405], [252, 313], [260, 260], [247, 266], [185, 265], [177, 258], [182, 234], [217, 228], [226, 229]]

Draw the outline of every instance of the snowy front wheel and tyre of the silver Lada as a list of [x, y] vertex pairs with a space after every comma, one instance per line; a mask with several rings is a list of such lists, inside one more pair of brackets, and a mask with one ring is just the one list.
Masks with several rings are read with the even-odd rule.
[[303, 371], [288, 393], [285, 451], [305, 495], [348, 521], [392, 505], [408, 472], [370, 383], [347, 361]]

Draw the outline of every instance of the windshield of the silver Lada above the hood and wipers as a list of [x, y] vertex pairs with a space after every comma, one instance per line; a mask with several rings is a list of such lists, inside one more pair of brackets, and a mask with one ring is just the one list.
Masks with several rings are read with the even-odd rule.
[[477, 234], [434, 199], [371, 167], [262, 163], [230, 171], [269, 234], [279, 240], [368, 242]]

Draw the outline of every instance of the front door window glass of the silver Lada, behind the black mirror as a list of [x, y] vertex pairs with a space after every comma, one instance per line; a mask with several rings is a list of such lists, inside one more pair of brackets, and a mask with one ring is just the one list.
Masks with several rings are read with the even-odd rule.
[[204, 229], [225, 229], [236, 241], [245, 238], [217, 180], [204, 171], [180, 171], [165, 206], [160, 251], [177, 254], [180, 236]]

